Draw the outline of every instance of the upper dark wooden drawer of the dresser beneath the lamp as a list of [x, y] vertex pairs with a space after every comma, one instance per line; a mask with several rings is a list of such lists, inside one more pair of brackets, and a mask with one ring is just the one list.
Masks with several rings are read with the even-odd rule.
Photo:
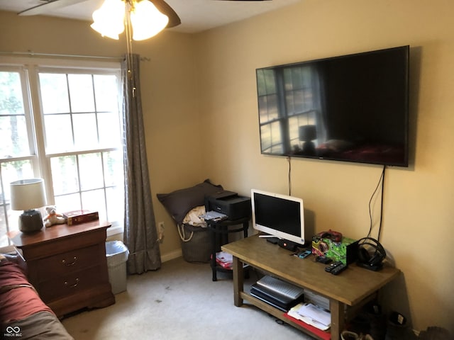
[[37, 263], [39, 282], [101, 264], [99, 253], [102, 251], [101, 256], [105, 257], [105, 250], [100, 251], [100, 247], [95, 244], [40, 259]]

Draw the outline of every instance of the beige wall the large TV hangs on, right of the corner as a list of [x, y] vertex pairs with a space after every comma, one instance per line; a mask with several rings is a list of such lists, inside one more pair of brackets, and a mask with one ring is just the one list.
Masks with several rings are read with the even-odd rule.
[[[385, 298], [419, 330], [454, 331], [453, 15], [447, 0], [304, 0], [197, 37], [205, 138], [216, 140], [206, 143], [214, 154], [210, 176], [245, 194], [250, 188], [289, 191], [287, 159], [260, 154], [256, 68], [411, 46], [411, 165], [386, 171], [380, 240], [403, 272]], [[365, 237], [380, 171], [292, 159], [292, 194], [304, 199], [316, 231]], [[379, 207], [380, 201], [376, 222]], [[375, 223], [373, 237], [377, 229]]]

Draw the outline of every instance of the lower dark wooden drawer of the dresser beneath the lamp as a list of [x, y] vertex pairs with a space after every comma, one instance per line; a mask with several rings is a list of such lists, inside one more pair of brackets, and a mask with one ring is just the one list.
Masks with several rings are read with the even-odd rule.
[[95, 266], [41, 282], [38, 285], [38, 292], [44, 302], [50, 302], [60, 297], [81, 294], [84, 290], [106, 282], [109, 282], [106, 280], [106, 268]]

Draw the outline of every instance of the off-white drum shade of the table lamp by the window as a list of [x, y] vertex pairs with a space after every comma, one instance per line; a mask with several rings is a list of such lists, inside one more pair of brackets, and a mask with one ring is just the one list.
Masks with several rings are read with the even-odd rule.
[[21, 179], [11, 182], [11, 209], [31, 210], [47, 204], [43, 179]]

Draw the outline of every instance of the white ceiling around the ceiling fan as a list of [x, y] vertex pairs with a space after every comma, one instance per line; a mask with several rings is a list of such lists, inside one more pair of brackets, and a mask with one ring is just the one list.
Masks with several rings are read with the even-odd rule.
[[[104, 0], [82, 0], [78, 4], [46, 12], [46, 16], [92, 21], [92, 13]], [[165, 0], [177, 12], [182, 24], [170, 30], [196, 33], [250, 18], [301, 0], [221, 1]], [[0, 10], [20, 12], [43, 4], [41, 0], [0, 0]]]

